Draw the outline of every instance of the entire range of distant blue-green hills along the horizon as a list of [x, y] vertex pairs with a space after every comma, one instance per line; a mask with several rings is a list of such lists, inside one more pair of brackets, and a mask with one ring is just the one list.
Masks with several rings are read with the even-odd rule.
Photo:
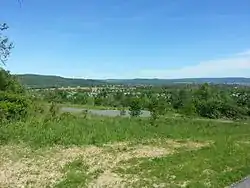
[[182, 79], [73, 79], [60, 76], [47, 76], [35, 74], [17, 75], [18, 79], [30, 88], [49, 87], [87, 87], [108, 84], [120, 85], [171, 85], [171, 84], [241, 84], [250, 85], [250, 78], [228, 77], [228, 78], [182, 78]]

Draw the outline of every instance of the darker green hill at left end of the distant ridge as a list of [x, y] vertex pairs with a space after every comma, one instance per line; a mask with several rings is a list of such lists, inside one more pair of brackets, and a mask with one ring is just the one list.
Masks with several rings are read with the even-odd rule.
[[91, 79], [73, 79], [60, 76], [47, 76], [35, 74], [16, 75], [20, 82], [30, 88], [51, 87], [87, 87], [106, 84], [105, 81]]

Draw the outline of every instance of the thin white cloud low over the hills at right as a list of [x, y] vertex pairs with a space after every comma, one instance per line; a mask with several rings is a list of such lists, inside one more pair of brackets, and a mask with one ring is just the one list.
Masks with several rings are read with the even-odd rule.
[[210, 60], [171, 70], [142, 70], [143, 78], [250, 77], [250, 50], [230, 58]]

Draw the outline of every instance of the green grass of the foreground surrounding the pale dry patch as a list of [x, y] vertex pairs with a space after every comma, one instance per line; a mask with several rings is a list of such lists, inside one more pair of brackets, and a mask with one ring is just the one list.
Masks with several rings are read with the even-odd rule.
[[[50, 109], [53, 111], [52, 108]], [[142, 143], [147, 139], [209, 141], [209, 147], [180, 151], [152, 159], [131, 159], [127, 167], [114, 169], [119, 174], [138, 176], [133, 187], [158, 184], [181, 187], [225, 187], [250, 174], [250, 126], [240, 122], [200, 121], [191, 118], [161, 118], [152, 126], [147, 118], [76, 116], [69, 113], [43, 113], [27, 121], [0, 125], [0, 145], [25, 144], [34, 149], [52, 146], [102, 145], [108, 142]], [[80, 186], [88, 176], [81, 166], [71, 165], [58, 187]], [[81, 173], [79, 175], [79, 168]], [[140, 173], [139, 173], [140, 172]], [[173, 184], [171, 184], [173, 182]]]

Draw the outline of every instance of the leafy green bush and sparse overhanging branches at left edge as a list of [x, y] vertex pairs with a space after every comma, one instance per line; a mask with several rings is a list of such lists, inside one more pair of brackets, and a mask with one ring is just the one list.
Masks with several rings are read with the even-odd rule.
[[[6, 24], [0, 25], [0, 61], [2, 65], [10, 54], [13, 44], [3, 35], [8, 29]], [[27, 117], [30, 100], [22, 85], [10, 72], [0, 67], [0, 121], [18, 120]]]

